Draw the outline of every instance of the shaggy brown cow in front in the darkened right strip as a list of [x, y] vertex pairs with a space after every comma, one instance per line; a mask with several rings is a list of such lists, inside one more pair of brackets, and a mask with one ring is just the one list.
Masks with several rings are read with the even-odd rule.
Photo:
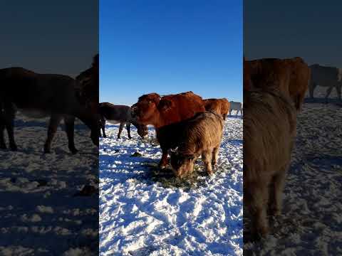
[[281, 193], [296, 135], [296, 108], [279, 88], [244, 92], [244, 206], [252, 233], [264, 236], [266, 210], [281, 212]]

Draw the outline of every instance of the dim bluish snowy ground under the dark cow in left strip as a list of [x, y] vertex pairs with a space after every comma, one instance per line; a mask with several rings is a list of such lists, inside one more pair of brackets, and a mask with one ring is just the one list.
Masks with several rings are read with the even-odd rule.
[[61, 128], [51, 154], [43, 154], [46, 126], [46, 119], [19, 115], [19, 150], [0, 150], [0, 255], [96, 255], [98, 194], [75, 195], [98, 186], [98, 148], [76, 124], [78, 154], [69, 152]]

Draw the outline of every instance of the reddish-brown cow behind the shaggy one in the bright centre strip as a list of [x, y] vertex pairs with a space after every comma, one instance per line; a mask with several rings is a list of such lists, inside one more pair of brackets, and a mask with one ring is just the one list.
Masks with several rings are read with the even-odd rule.
[[159, 134], [160, 128], [189, 119], [198, 112], [204, 111], [202, 97], [193, 92], [183, 92], [164, 97], [160, 97], [157, 93], [150, 93], [139, 97], [138, 102], [132, 106], [132, 115], [137, 122], [144, 125], [151, 124], [155, 127], [157, 139], [162, 149], [160, 168], [167, 165], [167, 151], [174, 147], [175, 142], [172, 142], [172, 138], [177, 137], [176, 131], [170, 131], [170, 134]]

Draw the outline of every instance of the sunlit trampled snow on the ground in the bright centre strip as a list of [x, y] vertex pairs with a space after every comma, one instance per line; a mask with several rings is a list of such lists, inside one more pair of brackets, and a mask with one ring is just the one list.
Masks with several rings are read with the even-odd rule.
[[100, 255], [242, 255], [242, 119], [228, 117], [219, 167], [190, 181], [158, 172], [160, 147], [118, 125], [100, 138]]

